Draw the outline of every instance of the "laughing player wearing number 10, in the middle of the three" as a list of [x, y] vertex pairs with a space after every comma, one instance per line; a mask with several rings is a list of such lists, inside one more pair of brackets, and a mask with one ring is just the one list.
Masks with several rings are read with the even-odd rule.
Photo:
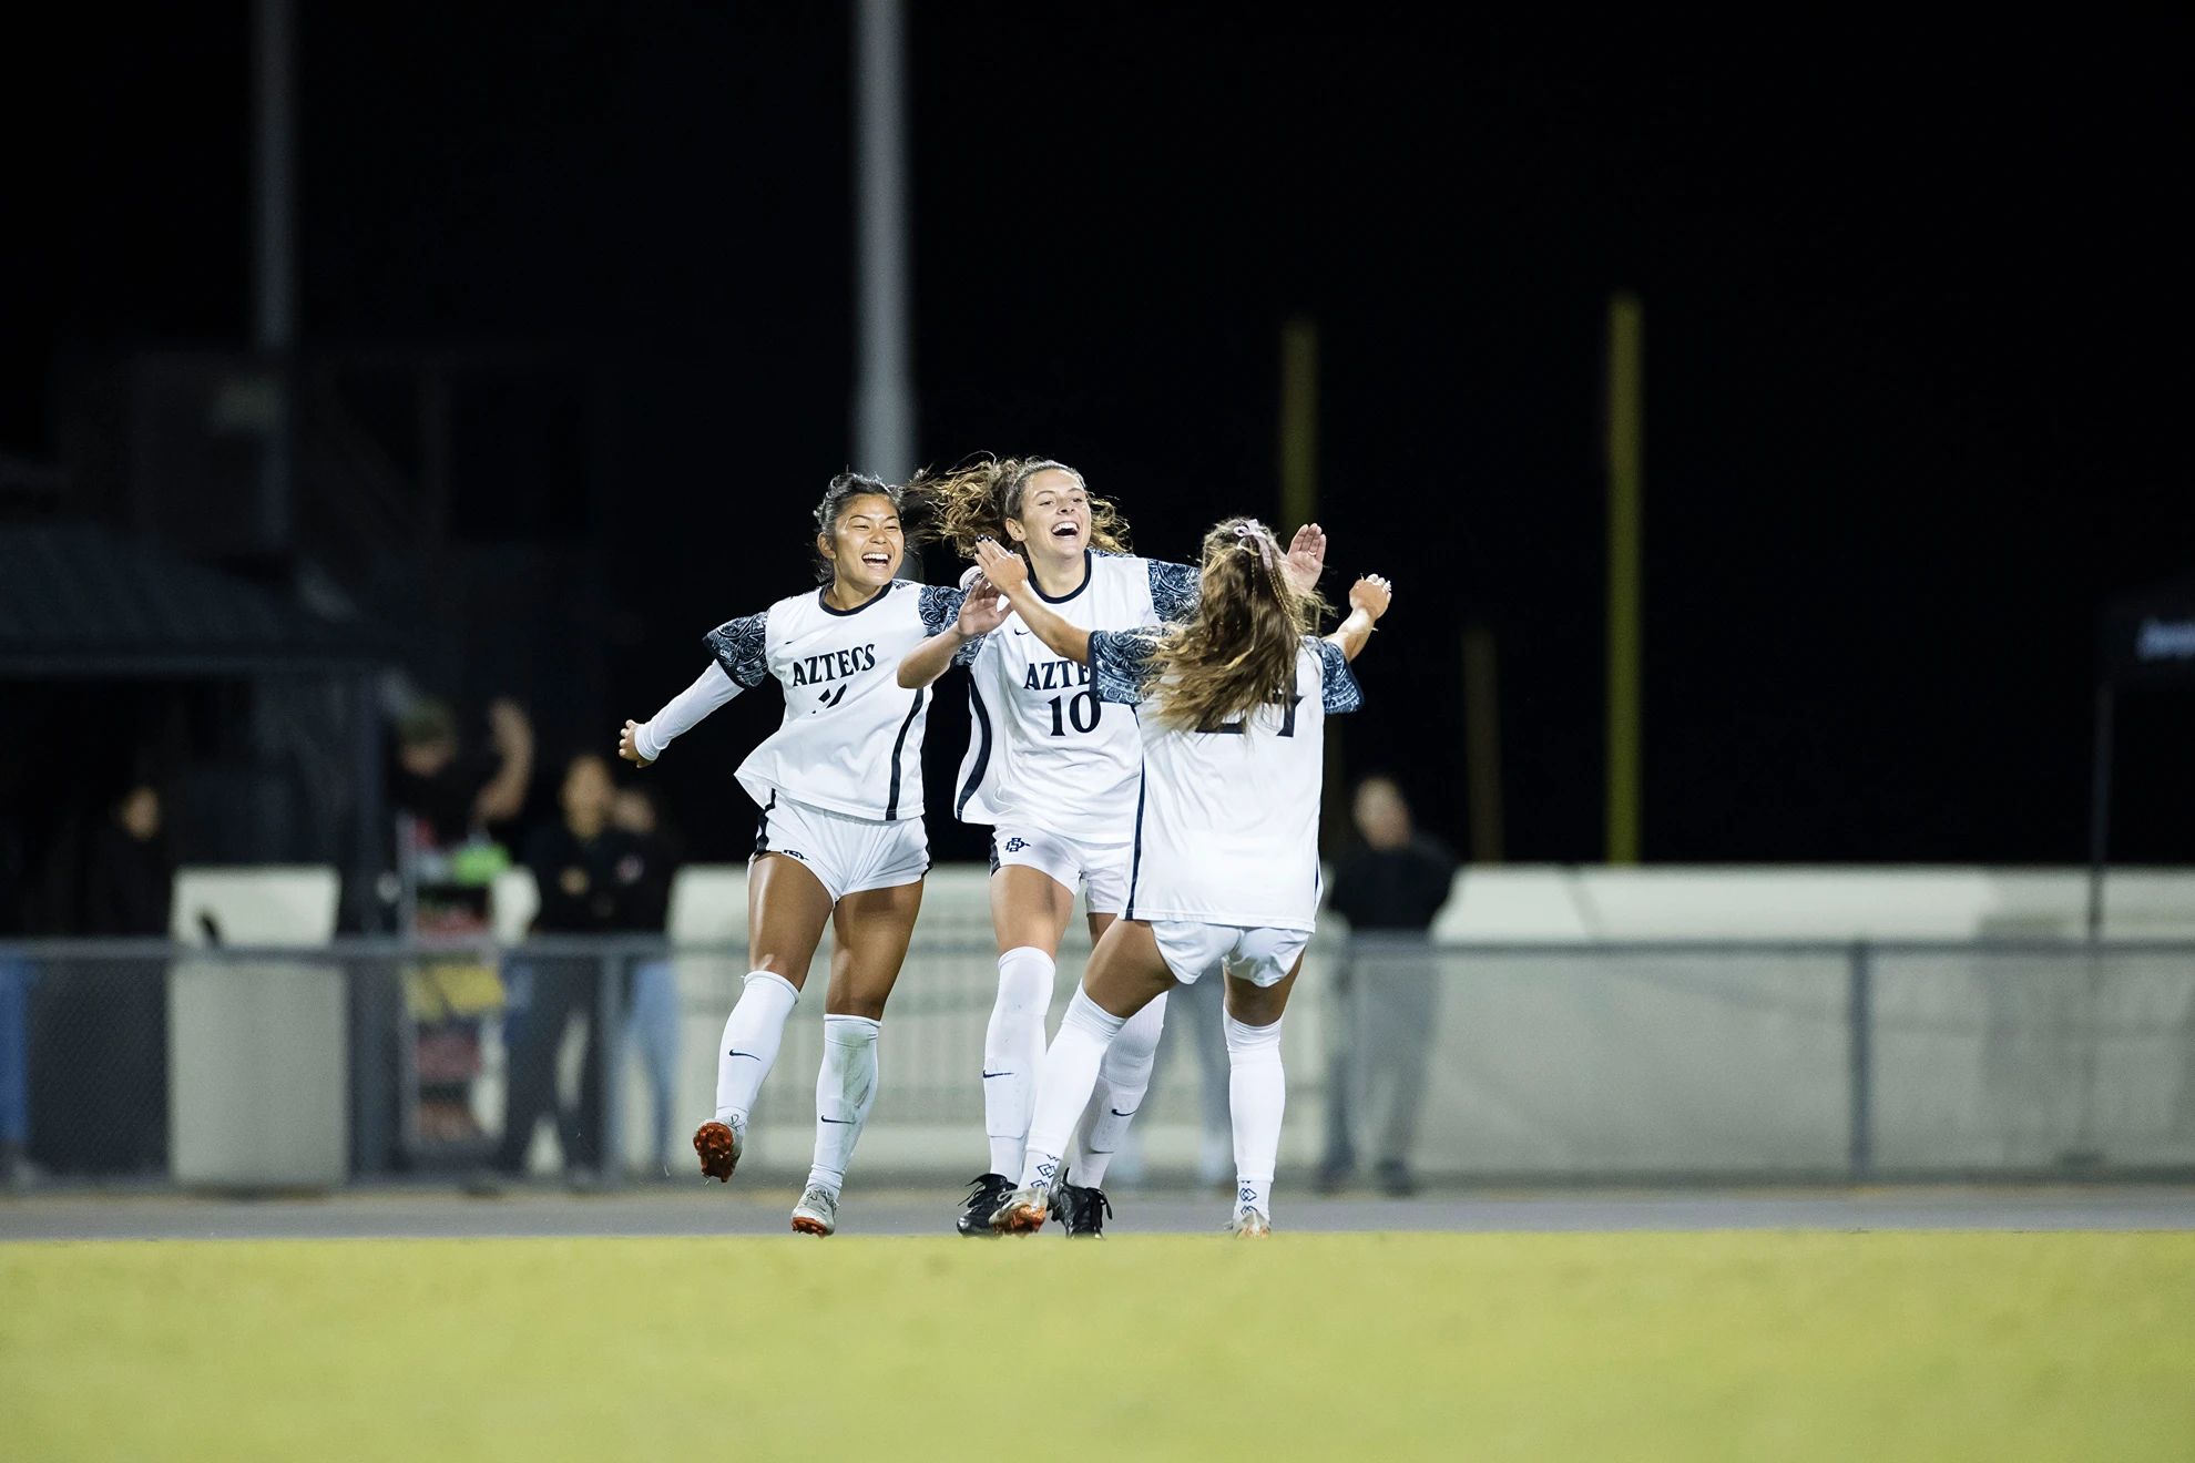
[[[1021, 555], [1029, 592], [1078, 630], [1139, 630], [1187, 619], [1196, 608], [1196, 568], [1130, 555], [1119, 511], [1065, 463], [983, 458], [920, 478], [913, 491], [924, 494], [939, 535], [964, 555], [975, 557], [979, 542]], [[1315, 586], [1324, 553], [1326, 535], [1310, 524], [1297, 533], [1284, 572]], [[986, 594], [997, 599], [983, 586], [970, 590], [972, 599]], [[992, 827], [999, 996], [983, 1033], [990, 1171], [972, 1180], [957, 1228], [992, 1235], [990, 1217], [1014, 1191], [1029, 1141], [1045, 1011], [1076, 888], [1084, 893], [1093, 941], [1128, 897], [1141, 739], [1133, 715], [1106, 713], [1087, 665], [1049, 649], [1016, 616], [986, 636], [955, 623], [907, 654], [900, 684], [926, 687], [970, 656], [968, 755], [953, 812], [961, 823]], [[1163, 1020], [1161, 996], [1106, 1053], [1073, 1158], [1054, 1187], [1069, 1235], [1104, 1233], [1111, 1213], [1104, 1171], [1150, 1086]]]

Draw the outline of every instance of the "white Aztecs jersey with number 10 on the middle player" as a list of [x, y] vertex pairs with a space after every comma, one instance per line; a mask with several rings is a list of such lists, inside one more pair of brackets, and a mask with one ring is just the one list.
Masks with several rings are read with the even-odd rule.
[[[1082, 588], [1058, 599], [1038, 590], [1038, 599], [1078, 630], [1139, 630], [1196, 608], [1196, 568], [1084, 551]], [[1010, 614], [970, 667], [968, 755], [953, 816], [1126, 844], [1141, 755], [1135, 715], [1106, 711], [1091, 669], [1054, 656]]]

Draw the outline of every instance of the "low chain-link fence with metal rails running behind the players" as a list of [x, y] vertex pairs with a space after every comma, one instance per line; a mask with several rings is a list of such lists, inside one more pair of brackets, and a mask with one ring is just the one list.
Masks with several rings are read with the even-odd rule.
[[[1058, 1007], [1087, 941], [1060, 956]], [[808, 1163], [830, 943], [748, 1165]], [[0, 945], [0, 1156], [57, 1182], [685, 1176], [746, 952], [645, 939]], [[997, 956], [918, 930], [867, 1180], [986, 1167]], [[1150, 1176], [1225, 1169], [1214, 991], [1177, 991]], [[1420, 1178], [2195, 1169], [2195, 945], [1425, 945], [1321, 937], [1282, 1160]], [[20, 1163], [18, 1163], [20, 1160]]]

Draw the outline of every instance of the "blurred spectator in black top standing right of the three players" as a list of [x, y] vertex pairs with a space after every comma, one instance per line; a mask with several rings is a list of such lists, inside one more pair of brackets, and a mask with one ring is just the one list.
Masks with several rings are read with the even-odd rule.
[[1389, 776], [1357, 783], [1357, 831], [1365, 847], [1335, 869], [1328, 906], [1352, 934], [1376, 934], [1357, 948], [1335, 983], [1337, 1040], [1326, 1081], [1326, 1160], [1319, 1187], [1339, 1189], [1357, 1169], [1350, 1134], [1352, 1099], [1365, 1108], [1374, 1178], [1387, 1193], [1409, 1193], [1409, 1149], [1425, 1101], [1425, 1059], [1433, 1044], [1438, 967], [1425, 948], [1455, 882], [1455, 855], [1411, 827], [1409, 803]]

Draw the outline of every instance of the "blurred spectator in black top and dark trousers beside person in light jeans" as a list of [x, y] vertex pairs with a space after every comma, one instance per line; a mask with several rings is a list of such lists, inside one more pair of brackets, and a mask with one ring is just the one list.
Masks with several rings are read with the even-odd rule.
[[[615, 801], [610, 763], [593, 752], [573, 757], [564, 768], [560, 794], [564, 816], [540, 827], [527, 842], [525, 862], [533, 869], [542, 899], [536, 930], [608, 934], [632, 928], [637, 904], [632, 891], [645, 882], [648, 860], [639, 838], [610, 825]], [[573, 1018], [595, 1018], [601, 1009], [601, 961], [527, 956], [522, 969], [531, 976], [531, 996], [511, 1042], [496, 1169], [509, 1176], [525, 1173], [533, 1125], [553, 1112], [564, 1143], [564, 1165], [577, 1178], [595, 1171], [601, 1160], [601, 1033], [597, 1031], [586, 1044], [577, 1112], [558, 1110], [555, 1057]]]

